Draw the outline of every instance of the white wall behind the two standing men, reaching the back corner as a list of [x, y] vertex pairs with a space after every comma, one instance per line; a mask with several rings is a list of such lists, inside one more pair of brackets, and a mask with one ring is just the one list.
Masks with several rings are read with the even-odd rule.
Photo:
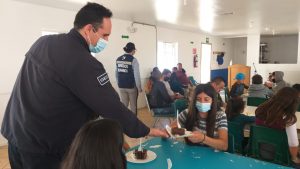
[[[42, 31], [68, 32], [72, 28], [75, 14], [74, 11], [12, 0], [0, 1], [0, 20], [3, 23], [0, 27], [0, 124], [27, 50], [41, 36]], [[144, 84], [145, 78], [156, 66], [155, 29], [150, 26], [135, 25], [138, 28], [137, 32], [130, 34], [127, 32], [130, 21], [113, 19], [112, 22], [113, 28], [109, 44], [102, 53], [96, 55], [96, 58], [105, 65], [110, 81], [116, 87], [115, 59], [123, 54], [122, 48], [128, 41], [134, 42]], [[122, 35], [129, 35], [129, 39], [122, 39]], [[200, 56], [201, 42], [205, 42], [206, 37], [197, 33], [158, 28], [158, 40], [178, 42], [179, 62], [182, 62], [187, 73], [193, 75], [198, 81], [200, 80], [200, 68], [192, 67], [192, 48], [196, 47]], [[227, 67], [232, 59], [231, 41], [216, 37], [209, 38], [213, 51], [225, 52], [225, 61], [222, 66], [218, 66], [215, 56], [212, 56], [212, 69]], [[191, 41], [194, 44], [191, 44]], [[143, 95], [139, 96], [138, 105], [139, 107], [145, 106]], [[0, 137], [0, 145], [5, 143], [5, 139]]]

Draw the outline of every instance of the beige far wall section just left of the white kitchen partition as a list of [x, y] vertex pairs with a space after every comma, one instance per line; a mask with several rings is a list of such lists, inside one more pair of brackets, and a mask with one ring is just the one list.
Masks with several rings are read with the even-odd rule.
[[247, 63], [247, 38], [232, 38], [232, 64]]

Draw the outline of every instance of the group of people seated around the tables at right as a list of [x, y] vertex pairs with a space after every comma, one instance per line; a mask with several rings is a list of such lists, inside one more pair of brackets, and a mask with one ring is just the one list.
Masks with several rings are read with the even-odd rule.
[[[243, 127], [246, 124], [255, 123], [256, 125], [286, 131], [291, 159], [299, 165], [296, 112], [299, 106], [300, 84], [294, 84], [290, 87], [283, 80], [283, 75], [283, 72], [275, 71], [270, 74], [268, 81], [263, 84], [262, 76], [256, 74], [252, 77], [252, 84], [248, 87], [243, 82], [244, 75], [238, 73], [236, 75], [237, 81], [230, 91], [226, 115], [228, 121], [238, 123]], [[244, 89], [248, 89], [248, 97], [267, 99], [257, 107], [255, 117], [243, 114], [245, 102], [241, 95], [244, 94]], [[247, 146], [246, 138], [243, 140], [243, 146], [244, 148]], [[275, 152], [275, 149], [270, 148], [268, 145], [265, 146], [269, 151], [269, 155], [264, 154], [266, 156], [264, 158], [268, 159]]]

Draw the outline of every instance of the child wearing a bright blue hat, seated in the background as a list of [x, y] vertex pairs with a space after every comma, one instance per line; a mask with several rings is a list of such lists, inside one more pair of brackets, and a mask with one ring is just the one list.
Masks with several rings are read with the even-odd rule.
[[243, 73], [238, 73], [235, 76], [236, 82], [232, 85], [230, 90], [230, 97], [241, 96], [244, 94], [244, 89], [248, 89], [249, 87], [244, 84], [245, 75]]

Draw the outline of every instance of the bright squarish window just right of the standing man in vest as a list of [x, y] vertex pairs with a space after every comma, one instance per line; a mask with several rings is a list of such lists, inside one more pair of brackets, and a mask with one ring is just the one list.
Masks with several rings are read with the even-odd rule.
[[172, 70], [178, 63], [178, 43], [158, 42], [157, 44], [157, 67]]

